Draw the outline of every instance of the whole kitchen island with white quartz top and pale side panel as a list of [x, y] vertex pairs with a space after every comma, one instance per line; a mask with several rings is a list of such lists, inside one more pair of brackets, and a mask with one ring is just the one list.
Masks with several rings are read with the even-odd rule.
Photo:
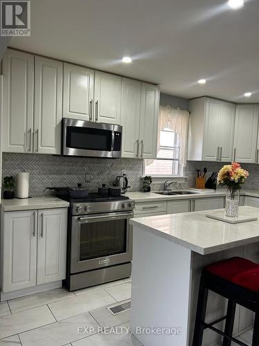
[[[210, 219], [213, 210], [140, 217], [133, 225], [131, 330], [144, 346], [192, 344], [202, 268], [233, 256], [259, 262], [259, 209], [240, 208], [257, 221], [228, 224]], [[226, 301], [209, 293], [207, 321], [224, 316]], [[237, 307], [234, 335], [253, 323], [253, 313]], [[224, 322], [216, 327], [222, 328]], [[155, 329], [151, 329], [155, 327]], [[164, 328], [164, 329], [162, 329]], [[207, 329], [204, 346], [220, 343]]]

